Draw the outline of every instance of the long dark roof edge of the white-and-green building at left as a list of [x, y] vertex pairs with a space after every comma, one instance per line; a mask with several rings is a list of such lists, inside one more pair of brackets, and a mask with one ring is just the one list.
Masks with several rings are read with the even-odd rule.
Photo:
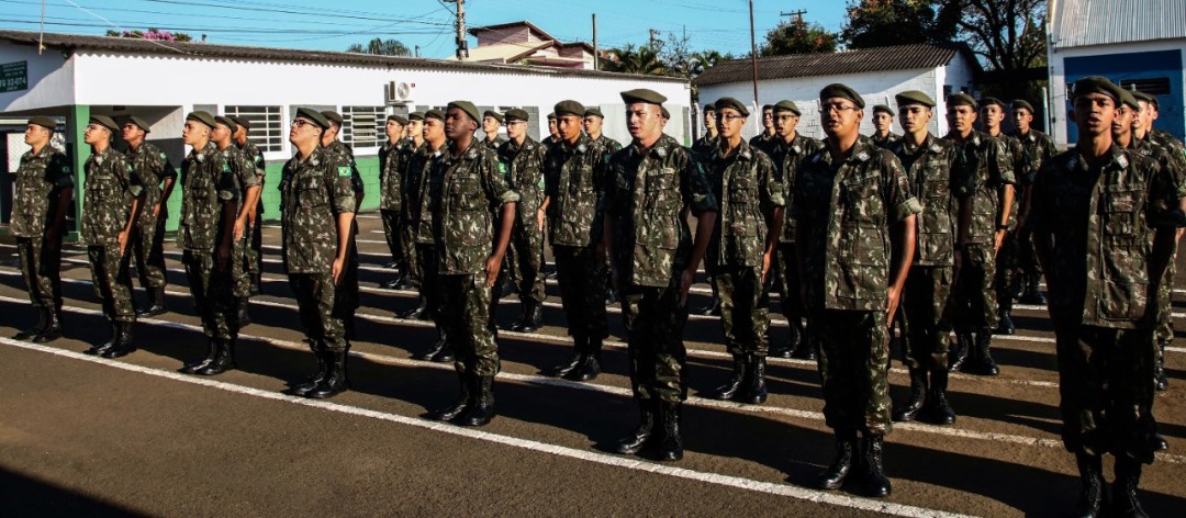
[[[37, 47], [40, 33], [31, 31], [0, 30], [0, 41]], [[211, 43], [153, 41], [139, 38], [119, 38], [108, 36], [83, 36], [46, 32], [44, 43], [47, 49], [64, 52], [113, 52], [159, 55], [191, 58], [237, 58], [267, 62], [293, 63], [334, 63], [368, 66], [404, 66], [410, 69], [445, 69], [472, 72], [498, 72], [522, 75], [562, 75], [588, 76], [601, 78], [630, 77], [636, 79], [684, 82], [678, 77], [644, 76], [636, 73], [616, 73], [599, 70], [565, 69], [533, 65], [499, 65], [486, 63], [449, 62], [445, 59], [412, 58], [396, 56], [378, 56], [356, 52], [308, 51], [295, 49], [276, 49], [259, 46], [218, 45]]]

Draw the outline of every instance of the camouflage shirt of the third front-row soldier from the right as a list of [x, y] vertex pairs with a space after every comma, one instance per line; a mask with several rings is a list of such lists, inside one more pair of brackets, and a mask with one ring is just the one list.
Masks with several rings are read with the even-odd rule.
[[669, 135], [643, 152], [626, 146], [610, 160], [599, 209], [613, 220], [612, 261], [623, 284], [667, 288], [691, 260], [693, 216], [716, 212], [700, 162]]

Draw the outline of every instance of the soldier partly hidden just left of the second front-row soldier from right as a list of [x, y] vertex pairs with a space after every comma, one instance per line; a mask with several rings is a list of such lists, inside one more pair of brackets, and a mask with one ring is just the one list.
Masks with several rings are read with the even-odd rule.
[[[791, 101], [779, 101], [774, 104], [774, 128], [778, 139], [770, 148], [770, 159], [774, 164], [778, 181], [783, 185], [783, 199], [790, 202], [795, 193], [795, 180], [798, 177], [799, 162], [812, 153], [823, 149], [823, 142], [803, 136], [796, 132], [799, 123], [799, 107]], [[799, 296], [799, 266], [795, 249], [795, 218], [783, 211], [782, 232], [778, 232], [778, 254], [774, 257], [774, 282], [782, 294], [779, 305], [790, 326], [791, 337], [785, 344], [770, 347], [770, 356], [779, 358], [816, 359], [818, 351], [804, 338], [803, 318], [806, 311]]]

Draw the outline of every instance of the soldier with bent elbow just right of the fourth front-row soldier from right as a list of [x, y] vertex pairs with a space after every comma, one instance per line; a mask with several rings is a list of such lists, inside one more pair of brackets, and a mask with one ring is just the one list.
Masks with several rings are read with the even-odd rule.
[[523, 314], [509, 328], [530, 333], [543, 319], [543, 160], [547, 149], [527, 135], [529, 116], [521, 109], [506, 110], [506, 135], [498, 146], [498, 161], [506, 180], [519, 193], [515, 205], [515, 229], [506, 250], [510, 277], [519, 294]]

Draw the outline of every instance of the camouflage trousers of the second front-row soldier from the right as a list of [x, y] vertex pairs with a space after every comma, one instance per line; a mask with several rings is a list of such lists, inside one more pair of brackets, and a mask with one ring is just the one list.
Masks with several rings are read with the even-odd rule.
[[890, 433], [890, 328], [885, 312], [817, 309], [809, 339], [820, 346], [823, 416], [834, 430]]

